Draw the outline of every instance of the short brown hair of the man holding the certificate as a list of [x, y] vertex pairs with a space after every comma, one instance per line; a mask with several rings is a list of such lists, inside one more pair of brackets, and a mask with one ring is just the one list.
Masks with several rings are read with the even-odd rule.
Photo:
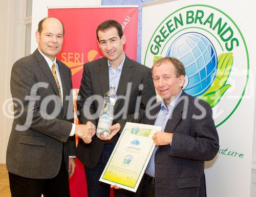
[[160, 66], [163, 62], [172, 62], [174, 67], [175, 67], [175, 72], [176, 72], [176, 77], [180, 77], [181, 75], [185, 76], [186, 75], [186, 71], [185, 71], [185, 67], [183, 65], [183, 63], [174, 57], [164, 57], [161, 58], [159, 60], [157, 60], [156, 62], [154, 62], [153, 66], [152, 66], [152, 77], [153, 77], [153, 69], [155, 66]]

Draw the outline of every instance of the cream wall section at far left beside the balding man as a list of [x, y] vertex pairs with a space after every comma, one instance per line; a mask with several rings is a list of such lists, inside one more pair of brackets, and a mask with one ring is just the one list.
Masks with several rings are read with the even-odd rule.
[[[10, 73], [13, 63], [24, 56], [25, 53], [25, 25], [23, 21], [26, 0], [1, 1], [1, 45], [0, 67], [1, 95], [0, 104], [11, 98]], [[0, 113], [0, 163], [6, 162], [6, 147], [11, 131], [12, 118], [8, 118], [1, 110]]]

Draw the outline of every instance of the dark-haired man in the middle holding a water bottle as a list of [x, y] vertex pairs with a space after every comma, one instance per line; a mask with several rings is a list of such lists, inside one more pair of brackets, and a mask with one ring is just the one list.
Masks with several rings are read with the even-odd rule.
[[[84, 164], [88, 196], [109, 197], [110, 185], [99, 182], [126, 121], [139, 121], [148, 101], [155, 103], [155, 88], [151, 69], [128, 58], [123, 52], [125, 35], [115, 20], [106, 20], [97, 28], [98, 45], [105, 57], [84, 64], [77, 109], [81, 124], [98, 124], [103, 95], [115, 85], [117, 95], [123, 99], [115, 104], [115, 117], [108, 137], [94, 136], [90, 144], [79, 140], [78, 159]], [[101, 100], [96, 101], [97, 97]], [[95, 100], [94, 100], [95, 99]], [[95, 115], [96, 114], [96, 115]], [[121, 128], [121, 129], [120, 129]], [[115, 196], [132, 196], [132, 192], [115, 190]]]

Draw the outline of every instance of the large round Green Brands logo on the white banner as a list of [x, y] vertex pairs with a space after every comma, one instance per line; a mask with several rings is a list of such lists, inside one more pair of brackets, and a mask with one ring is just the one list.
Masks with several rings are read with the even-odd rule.
[[165, 56], [184, 64], [183, 90], [209, 103], [216, 127], [236, 111], [249, 80], [249, 55], [239, 25], [228, 14], [209, 5], [169, 13], [148, 40], [142, 63], [153, 65]]

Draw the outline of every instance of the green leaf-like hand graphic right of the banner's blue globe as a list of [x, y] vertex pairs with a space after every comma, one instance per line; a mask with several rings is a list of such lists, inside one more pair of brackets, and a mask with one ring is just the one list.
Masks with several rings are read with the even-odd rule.
[[231, 87], [226, 84], [233, 65], [233, 53], [223, 53], [218, 57], [217, 73], [211, 86], [203, 94], [199, 95], [202, 99], [210, 104], [211, 107], [216, 106], [221, 100], [226, 90]]

